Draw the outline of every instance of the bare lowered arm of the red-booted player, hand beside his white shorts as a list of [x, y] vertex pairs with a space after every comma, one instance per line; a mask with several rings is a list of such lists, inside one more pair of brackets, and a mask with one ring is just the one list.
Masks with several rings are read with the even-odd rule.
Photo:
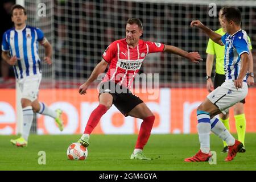
[[242, 53], [241, 55], [241, 71], [237, 77], [237, 80], [234, 81], [236, 88], [242, 88], [243, 78], [245, 77], [247, 71], [249, 70], [250, 57], [247, 52]]

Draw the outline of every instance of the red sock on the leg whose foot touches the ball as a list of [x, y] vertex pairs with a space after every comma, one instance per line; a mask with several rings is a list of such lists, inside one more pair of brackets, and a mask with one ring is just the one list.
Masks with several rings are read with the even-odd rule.
[[97, 126], [98, 122], [100, 121], [103, 114], [106, 113], [107, 107], [105, 105], [98, 105], [96, 109], [92, 111], [90, 114], [89, 120], [86, 124], [84, 134], [90, 134], [92, 133], [93, 129]]

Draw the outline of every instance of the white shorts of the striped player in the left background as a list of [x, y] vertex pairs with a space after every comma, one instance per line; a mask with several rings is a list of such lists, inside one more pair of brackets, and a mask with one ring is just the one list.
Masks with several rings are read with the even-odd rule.
[[32, 75], [18, 80], [22, 98], [27, 98], [31, 102], [38, 98], [39, 86], [42, 75]]

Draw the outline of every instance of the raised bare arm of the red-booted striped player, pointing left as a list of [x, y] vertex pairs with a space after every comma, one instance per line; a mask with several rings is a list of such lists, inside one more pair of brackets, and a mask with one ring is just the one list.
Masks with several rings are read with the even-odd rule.
[[210, 30], [207, 26], [200, 22], [200, 20], [193, 20], [190, 24], [191, 27], [198, 27], [203, 30], [213, 42], [220, 44], [220, 46], [224, 46], [221, 42], [221, 35], [217, 34], [216, 32]]

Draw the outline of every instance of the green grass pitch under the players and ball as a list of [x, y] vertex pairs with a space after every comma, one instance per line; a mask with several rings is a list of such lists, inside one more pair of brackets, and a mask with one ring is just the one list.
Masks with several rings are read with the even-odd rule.
[[[224, 162], [222, 141], [211, 135], [211, 150], [217, 152], [217, 164], [185, 163], [184, 158], [199, 150], [199, 140], [192, 135], [151, 135], [144, 154], [154, 160], [130, 160], [137, 135], [92, 135], [88, 158], [68, 160], [67, 148], [81, 135], [31, 135], [28, 147], [11, 145], [16, 136], [0, 136], [0, 170], [256, 170], [256, 134], [246, 134], [246, 152], [232, 162]], [[236, 135], [234, 135], [237, 137]], [[39, 165], [39, 151], [46, 152], [46, 164]], [[158, 158], [159, 159], [155, 159]]]

